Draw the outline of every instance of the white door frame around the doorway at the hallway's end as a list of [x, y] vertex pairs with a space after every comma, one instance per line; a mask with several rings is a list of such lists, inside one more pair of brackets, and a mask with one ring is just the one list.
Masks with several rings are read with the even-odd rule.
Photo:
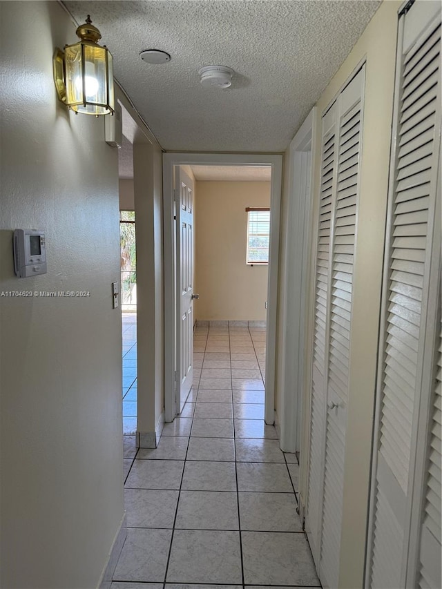
[[282, 155], [253, 153], [163, 153], [164, 222], [164, 417], [175, 419], [175, 249], [173, 235], [173, 174], [175, 166], [271, 166], [269, 280], [265, 422], [275, 422], [276, 320], [278, 306], [279, 228]]

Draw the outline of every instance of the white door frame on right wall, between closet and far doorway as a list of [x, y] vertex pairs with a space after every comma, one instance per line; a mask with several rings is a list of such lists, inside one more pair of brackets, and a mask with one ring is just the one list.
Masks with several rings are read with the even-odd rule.
[[[307, 294], [311, 262], [312, 208], [314, 201], [314, 157], [316, 153], [316, 107], [312, 108], [289, 146], [289, 185], [281, 276], [281, 407], [278, 408], [281, 428], [281, 449], [285, 452], [308, 452], [308, 444], [300, 440], [301, 414], [304, 409], [302, 392], [309, 377], [310, 358], [307, 338]], [[307, 156], [306, 154], [310, 155]], [[299, 279], [300, 278], [300, 279]]]

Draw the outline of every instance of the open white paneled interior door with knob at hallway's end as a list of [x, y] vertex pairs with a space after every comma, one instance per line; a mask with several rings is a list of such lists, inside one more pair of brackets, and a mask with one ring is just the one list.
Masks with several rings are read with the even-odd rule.
[[193, 381], [193, 182], [175, 168], [176, 227], [176, 413], [181, 413]]

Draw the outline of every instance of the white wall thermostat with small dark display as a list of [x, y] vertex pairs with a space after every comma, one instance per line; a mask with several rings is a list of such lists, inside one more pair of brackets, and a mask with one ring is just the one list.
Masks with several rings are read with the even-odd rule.
[[19, 278], [46, 274], [46, 246], [43, 231], [15, 229], [14, 269], [15, 276]]

